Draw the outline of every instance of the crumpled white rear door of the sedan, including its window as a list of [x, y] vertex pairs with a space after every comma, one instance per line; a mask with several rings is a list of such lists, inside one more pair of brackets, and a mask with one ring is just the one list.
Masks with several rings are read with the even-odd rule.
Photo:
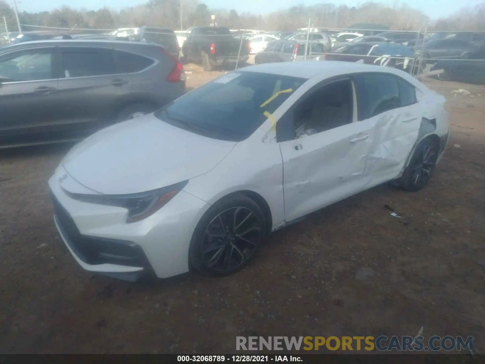
[[399, 76], [362, 74], [355, 77], [359, 120], [373, 121], [374, 137], [366, 161], [365, 179], [375, 185], [398, 177], [420, 132], [425, 101]]

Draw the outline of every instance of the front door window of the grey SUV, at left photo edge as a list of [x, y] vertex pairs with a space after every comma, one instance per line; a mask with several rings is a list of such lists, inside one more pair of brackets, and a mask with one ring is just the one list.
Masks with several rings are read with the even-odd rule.
[[0, 80], [6, 82], [53, 79], [52, 49], [23, 50], [0, 59]]

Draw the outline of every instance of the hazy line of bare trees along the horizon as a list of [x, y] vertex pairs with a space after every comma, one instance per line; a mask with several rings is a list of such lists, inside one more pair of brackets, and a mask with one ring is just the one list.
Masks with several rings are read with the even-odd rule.
[[[428, 21], [430, 30], [477, 30], [485, 31], [485, 2], [459, 11], [451, 17], [429, 22], [419, 10], [396, 1], [394, 6], [366, 2], [361, 6], [322, 3], [313, 6], [293, 6], [287, 10], [268, 15], [238, 14], [235, 10], [210, 9], [198, 0], [149, 0], [121, 11], [103, 8], [74, 10], [62, 7], [50, 12], [19, 14], [20, 23], [44, 27], [73, 29], [117, 29], [142, 25], [163, 26], [174, 30], [187, 29], [192, 25], [209, 25], [210, 15], [216, 22], [231, 29], [295, 30], [306, 27], [308, 18], [315, 27], [345, 28], [355, 23], [388, 25], [393, 30], [418, 30]], [[0, 21], [6, 17], [9, 31], [17, 31], [13, 9], [0, 0]], [[0, 23], [1, 24], [1, 23]], [[0, 30], [3, 28], [0, 25]], [[42, 30], [26, 26], [23, 31]], [[1, 31], [3, 32], [3, 30]]]

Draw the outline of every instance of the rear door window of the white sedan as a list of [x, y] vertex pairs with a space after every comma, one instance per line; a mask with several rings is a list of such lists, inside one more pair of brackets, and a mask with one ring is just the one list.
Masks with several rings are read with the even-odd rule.
[[400, 107], [397, 78], [389, 74], [363, 74], [355, 78], [359, 120]]

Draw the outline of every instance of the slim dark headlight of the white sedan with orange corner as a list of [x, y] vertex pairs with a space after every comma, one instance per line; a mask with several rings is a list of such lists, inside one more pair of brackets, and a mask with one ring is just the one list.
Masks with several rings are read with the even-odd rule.
[[189, 181], [130, 195], [83, 195], [65, 191], [73, 199], [98, 205], [124, 207], [128, 210], [127, 223], [143, 220], [153, 215], [180, 192]]

